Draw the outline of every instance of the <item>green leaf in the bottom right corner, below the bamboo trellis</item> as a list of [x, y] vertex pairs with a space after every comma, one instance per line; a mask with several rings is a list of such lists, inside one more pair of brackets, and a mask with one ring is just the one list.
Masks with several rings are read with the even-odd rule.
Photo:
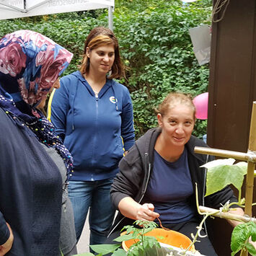
[[250, 255], [256, 256], [255, 247], [250, 244], [249, 238], [252, 238], [252, 241], [256, 241], [256, 224], [254, 222], [248, 222], [239, 224], [234, 227], [231, 236], [231, 256], [234, 256], [240, 250], [244, 250], [246, 248]]

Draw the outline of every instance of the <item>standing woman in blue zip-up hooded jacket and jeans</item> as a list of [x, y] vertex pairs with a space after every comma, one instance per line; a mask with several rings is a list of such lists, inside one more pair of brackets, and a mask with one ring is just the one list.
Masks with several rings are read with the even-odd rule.
[[90, 209], [90, 244], [105, 242], [115, 214], [110, 186], [134, 144], [131, 97], [113, 80], [122, 74], [118, 40], [111, 30], [95, 27], [85, 41], [80, 70], [61, 79], [48, 104], [48, 118], [74, 158], [69, 197], [76, 239]]

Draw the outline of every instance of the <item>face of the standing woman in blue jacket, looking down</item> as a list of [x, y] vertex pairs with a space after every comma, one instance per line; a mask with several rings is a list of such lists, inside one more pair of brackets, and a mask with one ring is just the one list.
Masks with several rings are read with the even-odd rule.
[[87, 48], [87, 57], [89, 58], [89, 72], [105, 76], [115, 61], [114, 45], [102, 45], [92, 50]]

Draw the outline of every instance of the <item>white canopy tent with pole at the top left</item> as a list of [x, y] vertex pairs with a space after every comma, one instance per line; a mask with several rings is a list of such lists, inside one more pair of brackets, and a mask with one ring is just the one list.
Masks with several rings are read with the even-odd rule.
[[108, 26], [112, 30], [114, 6], [115, 0], [0, 0], [0, 19], [108, 8]]

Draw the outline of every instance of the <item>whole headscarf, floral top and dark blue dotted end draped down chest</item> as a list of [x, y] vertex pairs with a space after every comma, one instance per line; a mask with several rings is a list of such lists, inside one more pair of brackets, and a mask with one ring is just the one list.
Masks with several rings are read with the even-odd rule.
[[63, 158], [67, 180], [73, 159], [53, 125], [35, 109], [46, 96], [73, 54], [48, 37], [19, 30], [0, 39], [0, 107], [20, 128], [30, 128], [38, 141], [53, 147]]

